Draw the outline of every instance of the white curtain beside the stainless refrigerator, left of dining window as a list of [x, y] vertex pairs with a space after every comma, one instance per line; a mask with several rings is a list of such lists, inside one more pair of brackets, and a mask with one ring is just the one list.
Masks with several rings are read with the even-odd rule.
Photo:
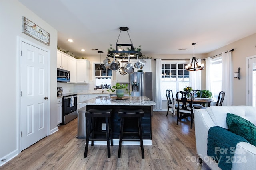
[[156, 59], [156, 95], [155, 95], [155, 102], [156, 105], [154, 106], [155, 109], [162, 109], [162, 97], [161, 97], [161, 76], [162, 74], [162, 60]]

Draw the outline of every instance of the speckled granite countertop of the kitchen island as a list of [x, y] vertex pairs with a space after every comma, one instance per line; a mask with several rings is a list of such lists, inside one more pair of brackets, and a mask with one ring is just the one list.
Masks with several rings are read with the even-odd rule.
[[156, 105], [154, 101], [149, 99], [146, 96], [140, 97], [123, 97], [120, 98], [116, 97], [108, 97], [108, 96], [99, 96], [96, 98], [92, 98], [89, 100], [85, 100], [80, 102], [81, 105], [141, 105], [141, 106], [152, 106]]

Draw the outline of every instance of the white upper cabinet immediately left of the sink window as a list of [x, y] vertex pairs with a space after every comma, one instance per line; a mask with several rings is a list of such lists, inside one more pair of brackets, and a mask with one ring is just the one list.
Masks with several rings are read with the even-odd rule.
[[76, 82], [89, 83], [89, 65], [90, 61], [79, 59], [76, 61]]

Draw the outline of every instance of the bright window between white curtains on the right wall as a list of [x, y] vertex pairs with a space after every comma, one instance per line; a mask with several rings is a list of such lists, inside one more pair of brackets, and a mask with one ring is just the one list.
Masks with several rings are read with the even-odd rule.
[[212, 96], [214, 102], [216, 102], [222, 86], [222, 57], [212, 59], [210, 72]]

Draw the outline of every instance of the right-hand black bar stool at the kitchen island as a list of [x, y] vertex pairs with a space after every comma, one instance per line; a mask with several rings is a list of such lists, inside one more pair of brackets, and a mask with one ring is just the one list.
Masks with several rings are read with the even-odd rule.
[[[140, 148], [142, 159], [144, 159], [144, 148], [142, 140], [142, 128], [140, 118], [144, 116], [144, 111], [142, 109], [120, 109], [118, 111], [118, 116], [121, 117], [120, 133], [119, 133], [119, 148], [118, 148], [118, 158], [121, 157], [121, 147], [123, 141], [140, 141]], [[124, 131], [124, 117], [137, 117], [138, 118], [138, 132]], [[124, 133], [137, 133], [140, 139], [123, 139]]]

